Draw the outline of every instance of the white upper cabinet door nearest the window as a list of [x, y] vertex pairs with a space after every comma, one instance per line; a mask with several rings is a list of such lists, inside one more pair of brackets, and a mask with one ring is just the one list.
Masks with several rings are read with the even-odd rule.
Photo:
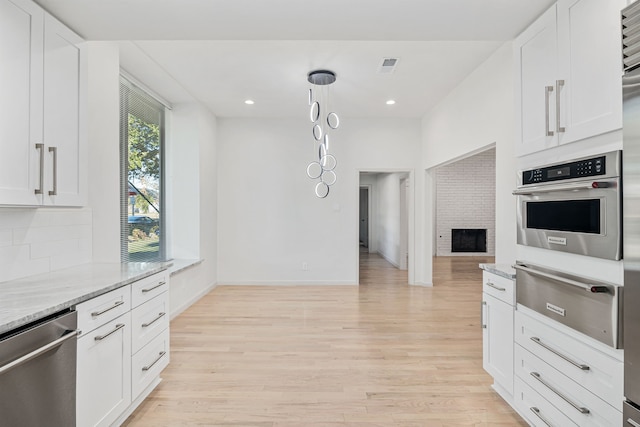
[[82, 206], [87, 181], [83, 40], [49, 15], [44, 31], [44, 204]]

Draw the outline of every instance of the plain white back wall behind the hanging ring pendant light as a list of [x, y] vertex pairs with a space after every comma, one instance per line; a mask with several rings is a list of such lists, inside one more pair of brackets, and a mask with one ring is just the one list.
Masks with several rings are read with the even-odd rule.
[[357, 283], [359, 171], [414, 170], [420, 121], [343, 118], [332, 137], [338, 181], [318, 199], [304, 114], [218, 119], [219, 283]]

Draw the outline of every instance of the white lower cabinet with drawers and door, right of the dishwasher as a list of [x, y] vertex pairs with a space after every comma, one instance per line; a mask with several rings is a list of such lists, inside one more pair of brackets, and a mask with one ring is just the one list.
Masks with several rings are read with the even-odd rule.
[[76, 306], [78, 427], [120, 425], [160, 382], [169, 364], [168, 288], [161, 272]]

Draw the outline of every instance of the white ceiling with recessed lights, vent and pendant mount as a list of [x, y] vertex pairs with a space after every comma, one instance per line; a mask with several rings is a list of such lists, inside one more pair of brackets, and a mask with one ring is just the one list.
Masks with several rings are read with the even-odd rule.
[[[88, 40], [122, 41], [123, 68], [169, 101], [219, 117], [306, 116], [306, 75], [322, 68], [341, 116], [418, 118], [553, 0], [38, 3]], [[391, 74], [385, 57], [399, 58]]]

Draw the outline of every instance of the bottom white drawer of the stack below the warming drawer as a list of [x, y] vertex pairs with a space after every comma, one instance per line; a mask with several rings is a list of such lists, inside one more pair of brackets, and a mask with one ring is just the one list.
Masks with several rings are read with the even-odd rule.
[[514, 381], [514, 404], [520, 415], [535, 427], [569, 427], [577, 426], [566, 415], [556, 409], [516, 376]]

